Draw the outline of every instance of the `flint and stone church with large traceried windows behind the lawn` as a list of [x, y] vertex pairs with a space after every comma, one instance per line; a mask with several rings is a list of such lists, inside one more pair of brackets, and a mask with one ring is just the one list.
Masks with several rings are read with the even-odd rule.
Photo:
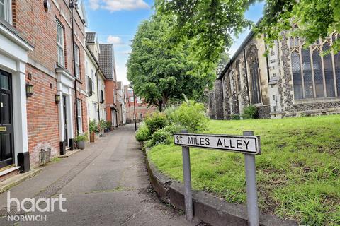
[[323, 56], [340, 35], [305, 49], [301, 38], [284, 37], [266, 52], [251, 32], [225, 66], [210, 93], [210, 117], [231, 119], [255, 105], [260, 118], [340, 113], [340, 53]]

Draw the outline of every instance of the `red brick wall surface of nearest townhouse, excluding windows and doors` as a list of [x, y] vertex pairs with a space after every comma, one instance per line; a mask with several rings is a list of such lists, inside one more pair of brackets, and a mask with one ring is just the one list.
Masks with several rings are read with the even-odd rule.
[[[55, 2], [57, 4], [55, 4]], [[51, 148], [52, 157], [60, 153], [60, 109], [55, 102], [57, 95], [57, 28], [56, 21], [64, 27], [64, 70], [74, 76], [72, 16], [69, 1], [50, 1], [49, 11], [45, 11], [43, 1], [21, 0], [13, 3], [13, 26], [33, 45], [33, 52], [28, 52], [26, 64], [26, 82], [34, 85], [34, 94], [27, 99], [28, 149], [31, 165], [37, 165], [39, 151]], [[85, 31], [79, 13], [74, 9], [74, 41], [79, 47], [80, 79], [77, 81], [77, 96], [82, 101], [82, 127], [88, 131], [86, 95], [79, 92], [86, 90], [85, 82]], [[30, 74], [30, 76], [28, 76]], [[30, 77], [30, 78], [29, 78]], [[74, 87], [74, 83], [73, 83]], [[74, 136], [77, 135], [77, 114], [72, 91], [72, 110]], [[84, 92], [83, 92], [84, 93]]]

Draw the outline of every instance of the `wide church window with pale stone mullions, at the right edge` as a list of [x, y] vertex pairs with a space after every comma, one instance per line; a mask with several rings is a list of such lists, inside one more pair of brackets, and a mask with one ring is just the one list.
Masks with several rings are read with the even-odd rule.
[[[333, 35], [333, 42], [335, 38]], [[290, 57], [295, 99], [340, 96], [339, 53], [324, 55], [330, 49], [331, 40], [319, 40], [308, 49], [296, 38], [292, 40]]]

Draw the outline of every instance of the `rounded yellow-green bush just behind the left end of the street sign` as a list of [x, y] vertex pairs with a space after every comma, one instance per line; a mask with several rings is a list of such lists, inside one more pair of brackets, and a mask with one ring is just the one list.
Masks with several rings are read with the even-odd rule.
[[205, 117], [205, 107], [202, 103], [193, 101], [183, 102], [176, 110], [175, 117], [181, 126], [188, 129], [189, 133], [206, 129], [208, 118]]

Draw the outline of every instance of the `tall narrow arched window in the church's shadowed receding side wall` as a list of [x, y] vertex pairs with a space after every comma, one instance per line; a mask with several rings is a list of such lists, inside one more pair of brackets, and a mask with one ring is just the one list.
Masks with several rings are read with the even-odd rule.
[[259, 57], [255, 45], [248, 50], [249, 75], [251, 88], [251, 104], [261, 102], [260, 76], [259, 76]]

